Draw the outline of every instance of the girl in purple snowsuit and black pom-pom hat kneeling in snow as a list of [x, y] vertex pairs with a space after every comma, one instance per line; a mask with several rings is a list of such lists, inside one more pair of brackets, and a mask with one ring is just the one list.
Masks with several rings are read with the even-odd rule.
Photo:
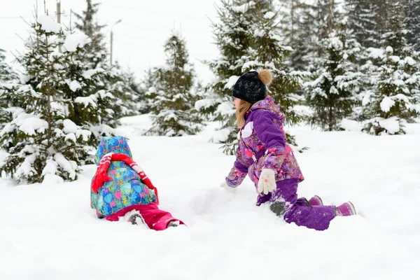
[[272, 97], [266, 96], [266, 85], [271, 81], [268, 70], [249, 71], [233, 87], [241, 130], [235, 165], [222, 186], [236, 188], [248, 174], [257, 189], [257, 206], [269, 202], [274, 214], [287, 223], [326, 230], [335, 216], [351, 216], [356, 211], [351, 202], [334, 207], [324, 206], [318, 196], [309, 201], [297, 198], [297, 185], [304, 178], [286, 144], [284, 116]]

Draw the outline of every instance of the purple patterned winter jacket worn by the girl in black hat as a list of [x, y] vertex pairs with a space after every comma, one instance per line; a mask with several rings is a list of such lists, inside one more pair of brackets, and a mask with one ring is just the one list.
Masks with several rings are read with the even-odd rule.
[[276, 182], [299, 179], [303, 175], [292, 148], [286, 144], [283, 131], [284, 116], [272, 97], [253, 104], [246, 112], [246, 123], [239, 134], [235, 165], [226, 177], [226, 183], [235, 188], [244, 181], [246, 174], [258, 186], [262, 169], [276, 172]]

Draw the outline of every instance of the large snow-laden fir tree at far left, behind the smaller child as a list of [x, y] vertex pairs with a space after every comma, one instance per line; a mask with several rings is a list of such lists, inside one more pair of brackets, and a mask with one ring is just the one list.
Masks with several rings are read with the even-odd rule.
[[69, 56], [57, 51], [62, 30], [47, 15], [37, 18], [31, 30], [27, 52], [18, 59], [27, 82], [9, 92], [22, 107], [11, 110], [13, 120], [1, 131], [0, 145], [8, 156], [0, 173], [25, 183], [39, 183], [46, 176], [76, 180], [85, 153], [83, 143], [91, 132], [67, 118], [71, 102], [64, 91], [69, 87], [65, 78]]

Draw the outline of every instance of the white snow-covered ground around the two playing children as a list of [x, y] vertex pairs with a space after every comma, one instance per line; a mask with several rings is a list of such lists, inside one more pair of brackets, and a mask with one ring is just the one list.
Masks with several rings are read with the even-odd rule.
[[[351, 200], [360, 215], [316, 232], [255, 207], [246, 179], [218, 186], [233, 157], [195, 137], [140, 137], [145, 116], [125, 118], [134, 159], [160, 191], [161, 208], [188, 224], [155, 232], [96, 218], [86, 166], [58, 186], [0, 181], [0, 279], [414, 279], [420, 261], [420, 125], [371, 137], [297, 127], [306, 180], [299, 194]], [[412, 278], [414, 276], [414, 278]]]

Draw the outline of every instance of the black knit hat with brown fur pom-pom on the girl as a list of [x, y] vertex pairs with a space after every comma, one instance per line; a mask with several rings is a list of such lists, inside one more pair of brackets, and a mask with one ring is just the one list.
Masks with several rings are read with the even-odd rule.
[[[232, 90], [232, 97], [255, 103], [265, 99], [267, 87], [271, 83], [272, 74], [268, 70], [248, 71], [239, 77]], [[264, 83], [263, 83], [264, 81]]]

